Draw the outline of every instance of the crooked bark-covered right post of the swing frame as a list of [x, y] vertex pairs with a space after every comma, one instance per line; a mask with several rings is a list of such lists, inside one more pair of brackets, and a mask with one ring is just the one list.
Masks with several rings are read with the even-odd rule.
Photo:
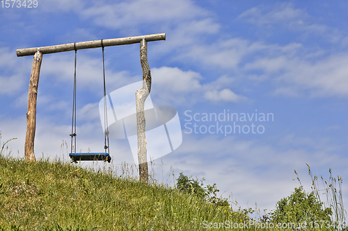
[[151, 74], [148, 63], [148, 43], [144, 40], [140, 42], [140, 62], [143, 69], [143, 86], [137, 90], [136, 96], [136, 130], [138, 137], [138, 162], [139, 180], [148, 183], [148, 157], [145, 140], [145, 100], [151, 90]]

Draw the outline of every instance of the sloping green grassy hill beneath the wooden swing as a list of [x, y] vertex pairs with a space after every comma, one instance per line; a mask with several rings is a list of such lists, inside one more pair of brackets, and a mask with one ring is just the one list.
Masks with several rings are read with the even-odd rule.
[[0, 230], [207, 230], [204, 221], [248, 219], [171, 187], [0, 155]]

